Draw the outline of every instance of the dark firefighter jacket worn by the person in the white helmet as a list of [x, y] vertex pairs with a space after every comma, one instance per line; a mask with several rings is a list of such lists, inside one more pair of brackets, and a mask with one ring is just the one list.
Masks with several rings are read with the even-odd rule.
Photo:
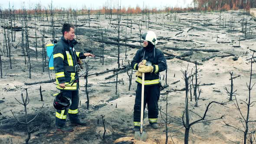
[[[159, 85], [159, 72], [166, 70], [166, 59], [163, 52], [160, 49], [155, 48], [143, 48], [136, 52], [135, 57], [131, 61], [132, 69], [138, 70], [138, 64], [146, 59], [147, 62], [151, 62], [153, 66], [153, 72], [145, 73], [145, 86]], [[142, 84], [142, 78], [137, 77], [136, 82]]]

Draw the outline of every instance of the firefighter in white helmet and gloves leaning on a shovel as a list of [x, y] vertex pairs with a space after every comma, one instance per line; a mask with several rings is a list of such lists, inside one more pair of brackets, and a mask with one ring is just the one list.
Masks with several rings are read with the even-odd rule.
[[136, 98], [134, 105], [134, 130], [139, 131], [141, 126], [141, 81], [142, 72], [145, 73], [144, 82], [144, 109], [148, 104], [148, 120], [152, 128], [158, 128], [158, 100], [160, 97], [160, 79], [159, 72], [166, 70], [166, 59], [160, 49], [155, 48], [157, 37], [154, 32], [148, 31], [141, 36], [144, 39], [143, 49], [136, 52], [131, 62], [131, 67], [136, 72]]

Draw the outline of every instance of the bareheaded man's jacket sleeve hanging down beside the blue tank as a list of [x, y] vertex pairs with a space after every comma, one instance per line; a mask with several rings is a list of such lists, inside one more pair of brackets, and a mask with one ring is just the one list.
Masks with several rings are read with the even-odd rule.
[[62, 46], [59, 46], [58, 44], [56, 44], [53, 49], [53, 63], [54, 63], [56, 80], [58, 80], [59, 84], [66, 82], [64, 69], [63, 69], [63, 60], [64, 60], [64, 50]]

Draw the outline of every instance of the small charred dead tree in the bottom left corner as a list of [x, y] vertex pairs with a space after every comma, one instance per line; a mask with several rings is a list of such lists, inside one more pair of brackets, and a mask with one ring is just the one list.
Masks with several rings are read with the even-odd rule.
[[[15, 98], [16, 99], [16, 98]], [[26, 138], [26, 144], [28, 144], [29, 143], [29, 141], [30, 141], [30, 136], [31, 136], [31, 133], [33, 132], [33, 131], [35, 131], [36, 129], [38, 129], [39, 127], [35, 127], [35, 128], [33, 128], [32, 130], [30, 130], [30, 123], [37, 117], [37, 115], [40, 113], [40, 111], [41, 111], [41, 109], [43, 108], [43, 105], [42, 105], [42, 107], [39, 109], [39, 112], [36, 114], [36, 116], [33, 118], [33, 119], [31, 119], [30, 121], [28, 120], [28, 114], [27, 114], [27, 108], [26, 108], [26, 106], [30, 103], [30, 99], [29, 99], [29, 95], [28, 95], [28, 93], [27, 93], [27, 88], [26, 88], [26, 99], [24, 100], [24, 97], [23, 97], [23, 93], [21, 93], [21, 102], [20, 101], [18, 101], [17, 99], [16, 99], [16, 101], [18, 101], [21, 105], [23, 105], [24, 106], [24, 111], [25, 111], [25, 122], [22, 122], [22, 121], [19, 121], [19, 119], [13, 114], [13, 111], [11, 110], [11, 112], [12, 112], [12, 114], [13, 114], [13, 117], [15, 118], [15, 120], [16, 121], [18, 121], [19, 123], [21, 123], [21, 124], [25, 124], [26, 125], [26, 130], [27, 130], [27, 133], [28, 133], [28, 137]]]

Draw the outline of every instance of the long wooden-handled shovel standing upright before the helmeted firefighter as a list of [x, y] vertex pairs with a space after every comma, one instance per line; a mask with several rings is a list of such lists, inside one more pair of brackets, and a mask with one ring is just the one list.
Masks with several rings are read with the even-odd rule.
[[136, 140], [146, 141], [147, 140], [147, 133], [143, 131], [143, 114], [144, 114], [144, 80], [145, 80], [145, 73], [142, 73], [142, 85], [141, 85], [141, 128], [140, 131], [135, 131], [134, 138]]

